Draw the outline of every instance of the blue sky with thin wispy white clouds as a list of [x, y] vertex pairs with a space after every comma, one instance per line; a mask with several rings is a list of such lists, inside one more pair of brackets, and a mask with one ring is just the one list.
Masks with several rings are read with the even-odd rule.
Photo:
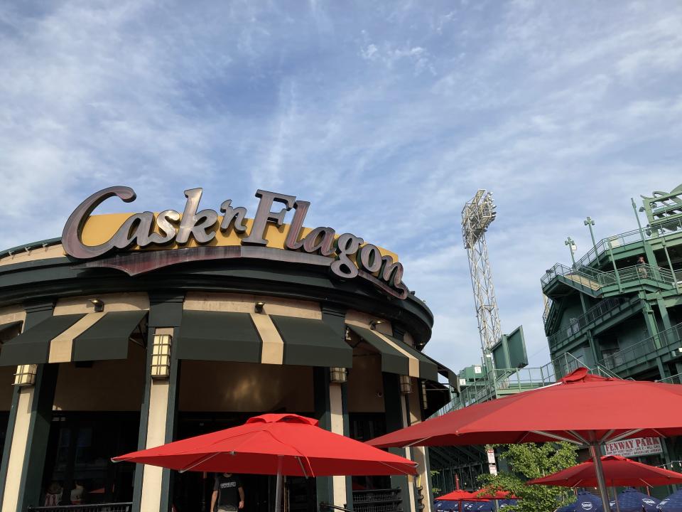
[[682, 183], [682, 2], [4, 1], [2, 247], [112, 211], [256, 189], [310, 201], [399, 254], [433, 311], [426, 352], [480, 360], [462, 206], [494, 192], [502, 330], [549, 361], [540, 277], [637, 228], [630, 198]]

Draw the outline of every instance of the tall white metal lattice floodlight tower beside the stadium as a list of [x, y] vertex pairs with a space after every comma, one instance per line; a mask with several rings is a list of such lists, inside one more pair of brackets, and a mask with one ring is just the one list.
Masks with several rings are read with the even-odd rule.
[[492, 193], [481, 189], [462, 210], [462, 238], [469, 256], [471, 284], [474, 289], [476, 318], [481, 336], [483, 353], [489, 353], [502, 336], [495, 290], [492, 286], [492, 272], [488, 261], [488, 246], [485, 232], [495, 220], [495, 204]]

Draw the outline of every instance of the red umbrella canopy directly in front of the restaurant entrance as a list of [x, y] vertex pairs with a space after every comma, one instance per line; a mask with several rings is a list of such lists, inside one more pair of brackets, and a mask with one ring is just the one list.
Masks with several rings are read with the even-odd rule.
[[114, 461], [180, 471], [288, 476], [416, 474], [416, 463], [318, 427], [293, 414], [252, 417], [244, 425], [132, 452]]

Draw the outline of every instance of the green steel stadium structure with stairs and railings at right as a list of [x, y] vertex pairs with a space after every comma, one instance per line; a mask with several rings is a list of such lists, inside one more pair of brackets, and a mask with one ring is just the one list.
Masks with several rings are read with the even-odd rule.
[[[642, 196], [639, 208], [633, 199], [632, 208], [637, 229], [596, 240], [588, 217], [592, 249], [576, 258], [573, 246], [570, 266], [557, 263], [543, 274], [551, 357], [570, 356], [621, 378], [680, 383], [682, 186]], [[666, 463], [682, 459], [676, 439], [666, 447]]]

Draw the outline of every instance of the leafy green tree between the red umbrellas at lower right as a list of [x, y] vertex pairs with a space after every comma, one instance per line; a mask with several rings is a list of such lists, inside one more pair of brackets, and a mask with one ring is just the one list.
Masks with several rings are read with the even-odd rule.
[[575, 447], [569, 443], [504, 444], [500, 457], [507, 461], [510, 473], [483, 474], [480, 483], [494, 491], [509, 491], [521, 500], [504, 511], [553, 512], [558, 506], [573, 501], [573, 493], [565, 487], [526, 485], [526, 481], [546, 476], [573, 466], [577, 462]]

